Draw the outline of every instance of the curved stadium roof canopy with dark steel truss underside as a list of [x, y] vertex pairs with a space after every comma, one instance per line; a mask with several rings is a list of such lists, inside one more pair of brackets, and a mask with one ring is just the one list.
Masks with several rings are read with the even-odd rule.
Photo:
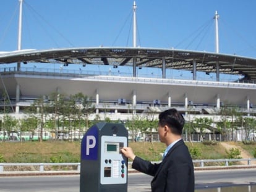
[[[66, 48], [66, 49], [24, 49], [20, 51], [0, 52], [0, 64], [15, 62], [92, 64], [113, 66], [163, 67], [165, 69], [190, 70], [193, 63], [196, 70], [233, 75], [244, 75], [247, 80], [256, 80], [256, 59], [214, 52], [186, 51], [157, 48]], [[135, 62], [134, 62], [135, 61]]]

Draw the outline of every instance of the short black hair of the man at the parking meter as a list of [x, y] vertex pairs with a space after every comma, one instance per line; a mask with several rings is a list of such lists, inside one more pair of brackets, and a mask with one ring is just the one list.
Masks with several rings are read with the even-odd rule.
[[177, 109], [168, 109], [159, 114], [159, 125], [164, 127], [168, 125], [171, 128], [172, 133], [176, 135], [182, 134], [182, 129], [184, 127], [185, 120], [183, 116], [177, 111]]

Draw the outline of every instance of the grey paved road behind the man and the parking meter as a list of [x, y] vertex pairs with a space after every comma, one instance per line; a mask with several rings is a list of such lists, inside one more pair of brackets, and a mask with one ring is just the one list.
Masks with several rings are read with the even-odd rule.
[[[128, 177], [128, 191], [150, 191], [151, 177], [132, 173]], [[44, 177], [0, 177], [1, 192], [79, 192], [79, 175]], [[195, 188], [250, 184], [256, 191], [256, 169], [211, 170], [195, 172]]]

